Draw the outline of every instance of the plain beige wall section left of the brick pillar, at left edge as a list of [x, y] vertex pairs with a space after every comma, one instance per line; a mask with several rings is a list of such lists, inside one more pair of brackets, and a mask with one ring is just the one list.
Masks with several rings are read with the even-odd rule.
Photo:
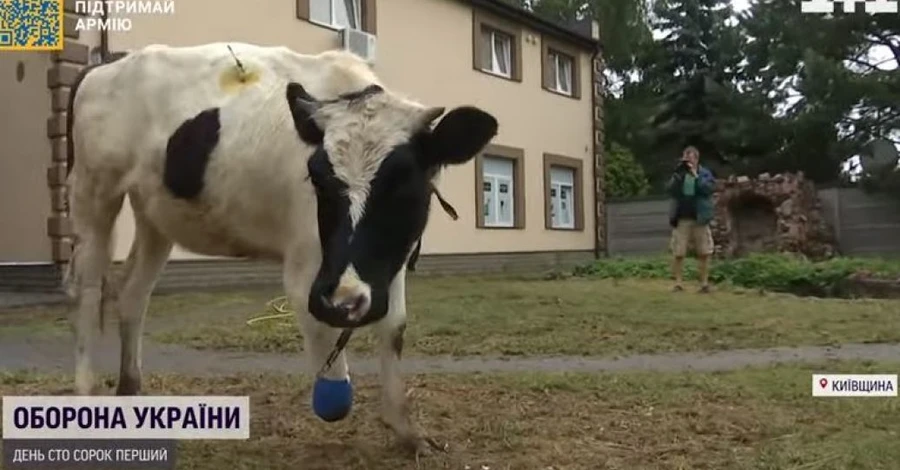
[[0, 263], [51, 261], [49, 64], [48, 54], [0, 55]]

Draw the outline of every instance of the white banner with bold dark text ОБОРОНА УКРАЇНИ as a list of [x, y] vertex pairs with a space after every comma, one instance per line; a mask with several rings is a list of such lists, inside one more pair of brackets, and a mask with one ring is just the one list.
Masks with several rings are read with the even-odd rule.
[[3, 397], [3, 439], [249, 438], [246, 396]]

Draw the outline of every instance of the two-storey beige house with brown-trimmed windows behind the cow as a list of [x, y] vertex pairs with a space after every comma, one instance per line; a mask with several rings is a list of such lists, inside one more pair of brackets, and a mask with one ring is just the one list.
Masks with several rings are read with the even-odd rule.
[[[596, 23], [563, 27], [503, 0], [180, 0], [174, 6], [163, 15], [108, 13], [127, 17], [128, 31], [79, 31], [85, 16], [66, 0], [64, 50], [0, 53], [0, 102], [7, 107], [0, 128], [0, 287], [54, 287], [70, 255], [65, 107], [76, 73], [109, 51], [154, 43], [232, 40], [303, 53], [362, 47], [388, 86], [428, 105], [473, 104], [494, 114], [500, 122], [494, 144], [441, 177], [440, 190], [459, 219], [434, 205], [420, 271], [544, 267], [605, 252]], [[356, 31], [351, 46], [344, 46], [344, 28]], [[116, 230], [121, 261], [133, 236], [127, 203]], [[176, 248], [160, 285], [278, 279], [275, 266]]]

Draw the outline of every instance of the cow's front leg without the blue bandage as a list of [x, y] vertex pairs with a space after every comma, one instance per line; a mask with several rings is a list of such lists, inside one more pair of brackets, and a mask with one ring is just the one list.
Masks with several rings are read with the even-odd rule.
[[381, 362], [382, 421], [397, 435], [400, 443], [416, 455], [430, 450], [445, 450], [428, 437], [410, 416], [409, 400], [400, 372], [403, 336], [406, 332], [406, 279], [401, 270], [391, 283], [388, 314], [377, 325]]

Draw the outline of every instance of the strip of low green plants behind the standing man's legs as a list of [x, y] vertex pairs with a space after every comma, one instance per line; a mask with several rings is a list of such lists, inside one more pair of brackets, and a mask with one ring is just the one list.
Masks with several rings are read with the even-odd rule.
[[[576, 268], [576, 276], [598, 278], [670, 279], [671, 259], [667, 257], [609, 258]], [[798, 295], [833, 296], [839, 284], [853, 274], [900, 277], [900, 261], [875, 258], [832, 258], [811, 262], [789, 254], [753, 254], [733, 260], [714, 260], [709, 278], [716, 284], [732, 284], [753, 289]], [[697, 262], [685, 260], [684, 278], [697, 279]]]

